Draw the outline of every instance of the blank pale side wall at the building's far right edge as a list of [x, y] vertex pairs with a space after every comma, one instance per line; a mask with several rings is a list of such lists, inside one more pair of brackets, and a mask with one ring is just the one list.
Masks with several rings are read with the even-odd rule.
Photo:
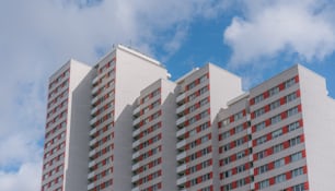
[[335, 190], [335, 104], [325, 79], [299, 65], [310, 190]]

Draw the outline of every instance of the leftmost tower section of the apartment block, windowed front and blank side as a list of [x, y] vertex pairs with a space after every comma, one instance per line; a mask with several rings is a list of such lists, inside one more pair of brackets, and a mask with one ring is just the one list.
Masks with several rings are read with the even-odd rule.
[[90, 71], [70, 60], [49, 79], [43, 191], [85, 189]]

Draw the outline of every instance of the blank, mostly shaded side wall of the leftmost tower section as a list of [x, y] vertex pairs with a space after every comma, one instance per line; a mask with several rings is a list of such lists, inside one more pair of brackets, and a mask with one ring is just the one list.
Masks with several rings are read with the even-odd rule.
[[70, 61], [70, 94], [65, 165], [65, 190], [81, 191], [88, 186], [88, 155], [91, 102], [91, 67]]

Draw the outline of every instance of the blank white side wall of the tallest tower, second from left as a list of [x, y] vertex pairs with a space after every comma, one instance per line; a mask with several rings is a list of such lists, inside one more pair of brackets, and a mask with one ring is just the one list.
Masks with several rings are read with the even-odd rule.
[[132, 103], [140, 91], [168, 71], [152, 59], [125, 47], [116, 50], [114, 190], [131, 190]]

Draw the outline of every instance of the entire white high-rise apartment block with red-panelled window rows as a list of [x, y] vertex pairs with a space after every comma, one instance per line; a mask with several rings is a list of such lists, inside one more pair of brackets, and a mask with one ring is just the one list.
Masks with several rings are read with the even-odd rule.
[[294, 65], [243, 92], [117, 46], [49, 80], [42, 191], [335, 190], [335, 100]]

